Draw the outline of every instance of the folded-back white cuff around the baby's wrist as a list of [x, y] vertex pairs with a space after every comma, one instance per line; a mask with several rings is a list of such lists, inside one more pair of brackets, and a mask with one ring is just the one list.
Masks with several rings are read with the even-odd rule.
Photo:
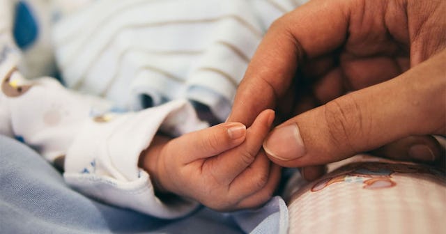
[[87, 121], [68, 150], [63, 176], [75, 189], [107, 203], [155, 217], [184, 216], [198, 203], [183, 198], [160, 201], [148, 173], [137, 167], [138, 159], [160, 127], [181, 134], [206, 126], [183, 100], [136, 113], [97, 116]]

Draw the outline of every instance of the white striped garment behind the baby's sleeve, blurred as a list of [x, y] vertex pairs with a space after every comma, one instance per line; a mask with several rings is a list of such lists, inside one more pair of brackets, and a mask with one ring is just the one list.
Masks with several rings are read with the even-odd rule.
[[193, 100], [221, 122], [263, 33], [296, 5], [289, 0], [53, 1], [48, 24], [69, 88], [105, 97], [121, 109], [145, 108], [144, 96], [153, 105]]

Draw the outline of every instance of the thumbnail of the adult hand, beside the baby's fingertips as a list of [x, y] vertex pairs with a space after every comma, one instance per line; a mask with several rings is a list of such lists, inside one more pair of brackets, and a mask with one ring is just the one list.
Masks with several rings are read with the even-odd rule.
[[306, 153], [299, 127], [295, 123], [272, 130], [263, 142], [263, 149], [271, 157], [282, 161], [297, 159]]

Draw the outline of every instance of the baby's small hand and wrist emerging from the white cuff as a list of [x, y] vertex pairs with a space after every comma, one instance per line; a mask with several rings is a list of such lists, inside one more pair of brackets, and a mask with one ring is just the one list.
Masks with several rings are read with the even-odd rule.
[[155, 189], [192, 198], [215, 210], [253, 208], [268, 201], [280, 169], [261, 150], [274, 112], [263, 111], [251, 127], [222, 123], [176, 139], [155, 137], [139, 166]]

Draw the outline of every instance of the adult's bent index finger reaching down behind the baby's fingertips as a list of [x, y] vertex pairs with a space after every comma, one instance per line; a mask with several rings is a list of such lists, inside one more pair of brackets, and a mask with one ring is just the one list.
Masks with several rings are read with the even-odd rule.
[[251, 125], [274, 109], [304, 57], [332, 52], [347, 36], [351, 1], [316, 0], [276, 20], [268, 29], [238, 87], [229, 121]]

